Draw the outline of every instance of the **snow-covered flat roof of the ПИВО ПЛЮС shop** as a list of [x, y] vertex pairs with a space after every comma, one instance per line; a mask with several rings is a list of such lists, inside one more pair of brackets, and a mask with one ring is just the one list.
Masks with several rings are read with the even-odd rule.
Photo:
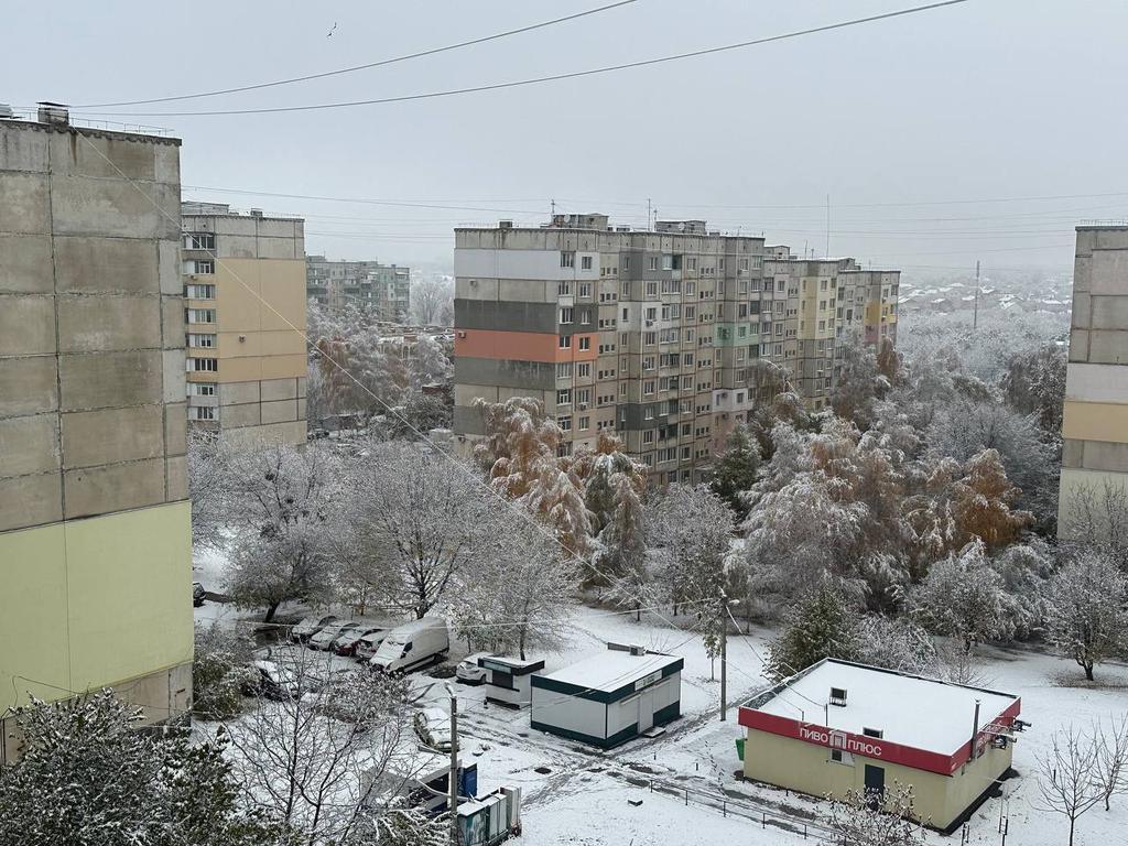
[[[846, 690], [845, 707], [828, 705], [831, 687]], [[971, 737], [976, 699], [980, 703], [981, 729], [1019, 697], [825, 659], [760, 694], [744, 707], [854, 734], [862, 734], [863, 729], [879, 729], [883, 739], [893, 743], [950, 755]]]

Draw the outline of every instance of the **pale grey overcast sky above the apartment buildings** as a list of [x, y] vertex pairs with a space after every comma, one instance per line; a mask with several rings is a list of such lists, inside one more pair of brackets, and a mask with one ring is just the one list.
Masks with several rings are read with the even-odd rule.
[[[88, 105], [263, 82], [610, 1], [9, 3], [0, 102]], [[920, 1], [636, 0], [386, 68], [102, 111], [262, 108], [486, 85]], [[171, 129], [184, 140], [186, 199], [302, 214], [308, 252], [331, 257], [449, 263], [458, 223], [539, 223], [555, 199], [561, 211], [643, 226], [647, 197], [662, 219], [705, 218], [822, 255], [829, 194], [834, 255], [920, 273], [976, 258], [987, 268], [1060, 270], [1072, 265], [1075, 223], [1128, 218], [1126, 33], [1123, 0], [970, 0], [525, 88], [320, 112], [107, 120]], [[1059, 199], [954, 202], [1015, 197]]]

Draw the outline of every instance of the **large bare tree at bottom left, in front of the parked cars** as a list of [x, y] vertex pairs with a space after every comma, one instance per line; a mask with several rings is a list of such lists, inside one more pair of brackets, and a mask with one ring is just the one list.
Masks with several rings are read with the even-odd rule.
[[312, 846], [344, 843], [378, 809], [379, 778], [407, 751], [406, 689], [379, 673], [332, 677], [328, 656], [280, 649], [280, 690], [226, 725], [248, 799]]

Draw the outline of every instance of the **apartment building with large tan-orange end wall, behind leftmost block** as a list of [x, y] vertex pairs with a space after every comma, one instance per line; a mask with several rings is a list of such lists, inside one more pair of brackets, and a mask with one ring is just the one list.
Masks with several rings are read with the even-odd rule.
[[305, 222], [224, 203], [182, 212], [190, 425], [305, 443]]

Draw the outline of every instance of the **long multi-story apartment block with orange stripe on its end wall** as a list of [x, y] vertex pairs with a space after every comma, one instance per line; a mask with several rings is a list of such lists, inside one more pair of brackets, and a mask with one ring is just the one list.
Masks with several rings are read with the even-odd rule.
[[705, 221], [570, 214], [455, 237], [455, 431], [482, 433], [477, 398], [532, 396], [564, 450], [614, 430], [662, 482], [703, 477], [784, 384], [821, 408], [839, 345], [896, 332], [896, 272], [796, 259]]

